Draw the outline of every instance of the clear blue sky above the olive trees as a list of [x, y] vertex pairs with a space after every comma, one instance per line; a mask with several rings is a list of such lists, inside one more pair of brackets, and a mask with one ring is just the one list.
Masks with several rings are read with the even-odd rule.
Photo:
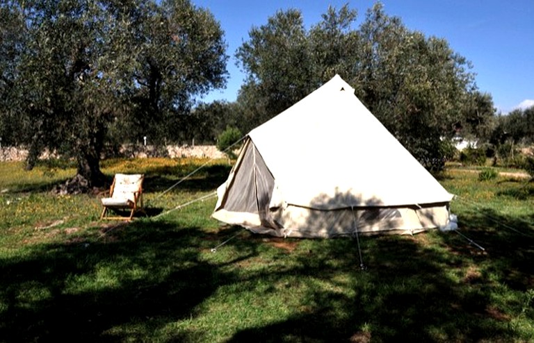
[[[321, 21], [328, 6], [348, 3], [357, 10], [355, 28], [373, 0], [192, 0], [209, 9], [225, 31], [230, 56], [225, 90], [215, 90], [203, 101], [234, 101], [244, 74], [236, 66], [234, 53], [248, 40], [252, 26], [266, 24], [277, 10], [297, 8], [305, 24]], [[401, 17], [411, 30], [442, 37], [451, 48], [470, 60], [481, 92], [492, 94], [495, 107], [505, 113], [534, 106], [534, 0], [382, 0], [388, 15]]]

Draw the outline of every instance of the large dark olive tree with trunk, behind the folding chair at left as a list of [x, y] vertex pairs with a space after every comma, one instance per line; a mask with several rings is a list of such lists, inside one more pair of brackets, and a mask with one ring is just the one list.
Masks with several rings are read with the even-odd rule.
[[225, 85], [223, 31], [187, 0], [2, 0], [0, 34], [0, 120], [19, 135], [1, 134], [30, 167], [44, 148], [76, 158], [90, 185], [109, 131], [172, 138]]

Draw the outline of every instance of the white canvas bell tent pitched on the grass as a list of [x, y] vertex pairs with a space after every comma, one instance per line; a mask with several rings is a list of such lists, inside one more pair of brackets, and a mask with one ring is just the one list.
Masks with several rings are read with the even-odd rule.
[[418, 233], [452, 199], [338, 75], [248, 133], [213, 217], [278, 237]]

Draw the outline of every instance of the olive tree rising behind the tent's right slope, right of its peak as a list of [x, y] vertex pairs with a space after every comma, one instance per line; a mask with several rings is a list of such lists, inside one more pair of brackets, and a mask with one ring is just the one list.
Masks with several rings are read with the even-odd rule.
[[476, 90], [471, 64], [442, 38], [407, 29], [380, 3], [360, 27], [362, 101], [428, 169], [444, 165], [445, 137]]

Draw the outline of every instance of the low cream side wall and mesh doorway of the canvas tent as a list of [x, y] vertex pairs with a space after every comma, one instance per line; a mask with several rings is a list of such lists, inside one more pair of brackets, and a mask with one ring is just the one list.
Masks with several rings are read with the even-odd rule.
[[[263, 158], [248, 140], [232, 177], [219, 190], [213, 217], [277, 237], [339, 237], [414, 234], [448, 224], [448, 202], [394, 207], [321, 209], [278, 203], [277, 187]], [[343, 197], [342, 194], [339, 196]], [[323, 199], [330, 203], [343, 199]]]

